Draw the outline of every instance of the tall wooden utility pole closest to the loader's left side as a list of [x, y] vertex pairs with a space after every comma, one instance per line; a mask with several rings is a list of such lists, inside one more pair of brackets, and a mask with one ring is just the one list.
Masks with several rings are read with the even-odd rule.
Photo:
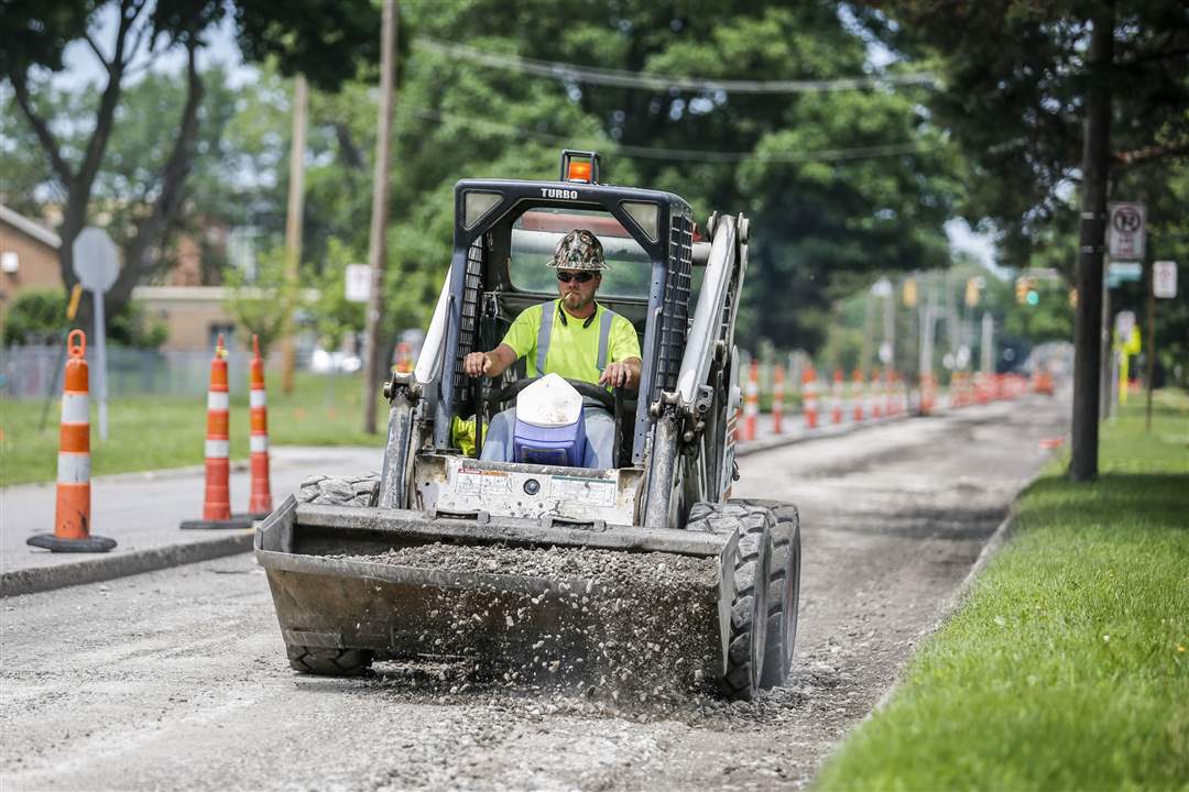
[[376, 170], [372, 180], [372, 220], [367, 245], [371, 291], [364, 334], [364, 431], [376, 433], [376, 385], [384, 351], [384, 264], [388, 230], [388, 171], [392, 152], [392, 107], [396, 103], [396, 0], [384, 0], [379, 55], [379, 116], [376, 121]]

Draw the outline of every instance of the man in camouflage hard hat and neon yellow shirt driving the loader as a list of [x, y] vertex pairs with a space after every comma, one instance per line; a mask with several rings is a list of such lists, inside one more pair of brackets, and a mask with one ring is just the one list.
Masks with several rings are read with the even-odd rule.
[[[594, 299], [608, 268], [603, 245], [591, 232], [575, 228], [558, 242], [549, 267], [558, 272], [559, 299], [526, 309], [491, 351], [474, 351], [463, 361], [470, 376], [497, 378], [521, 357], [528, 375], [558, 374], [600, 386], [634, 391], [640, 386], [640, 340], [631, 322]], [[542, 327], [543, 325], [543, 327]], [[614, 468], [615, 417], [584, 404], [584, 467]], [[491, 419], [482, 458], [511, 462], [516, 408]]]

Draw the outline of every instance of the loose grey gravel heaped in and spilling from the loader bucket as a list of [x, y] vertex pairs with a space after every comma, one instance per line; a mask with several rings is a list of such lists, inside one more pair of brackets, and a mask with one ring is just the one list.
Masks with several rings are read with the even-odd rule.
[[465, 576], [420, 587], [417, 648], [405, 654], [455, 660], [455, 690], [663, 701], [710, 693], [718, 676], [715, 559], [442, 543], [342, 558]]

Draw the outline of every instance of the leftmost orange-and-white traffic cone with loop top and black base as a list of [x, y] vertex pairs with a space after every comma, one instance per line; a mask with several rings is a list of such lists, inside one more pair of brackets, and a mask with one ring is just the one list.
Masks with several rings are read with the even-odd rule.
[[90, 375], [82, 330], [70, 331], [67, 348], [54, 533], [38, 533], [25, 543], [56, 553], [106, 553], [115, 539], [90, 536]]

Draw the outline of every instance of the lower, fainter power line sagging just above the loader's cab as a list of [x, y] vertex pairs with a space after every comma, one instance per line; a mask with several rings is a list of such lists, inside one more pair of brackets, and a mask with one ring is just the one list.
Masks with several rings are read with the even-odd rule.
[[899, 142], [899, 144], [887, 144], [880, 146], [860, 146], [854, 148], [828, 148], [818, 151], [809, 151], [804, 153], [775, 153], [775, 154], [763, 154], [753, 151], [698, 151], [693, 148], [660, 148], [653, 146], [630, 146], [624, 144], [615, 142], [614, 140], [598, 140], [596, 138], [574, 138], [549, 134], [547, 132], [536, 132], [535, 129], [526, 129], [523, 127], [514, 127], [505, 123], [498, 123], [496, 121], [487, 121], [485, 119], [476, 118], [461, 118], [453, 114], [443, 114], [436, 110], [432, 110], [424, 107], [411, 107], [405, 106], [403, 108], [423, 119], [432, 121], [458, 121], [468, 127], [483, 127], [497, 132], [501, 134], [511, 135], [515, 138], [529, 138], [537, 140], [540, 142], [547, 142], [555, 146], [573, 146], [579, 141], [584, 144], [590, 144], [591, 147], [599, 146], [611, 146], [614, 152], [621, 157], [628, 157], [634, 159], [662, 159], [671, 161], [688, 161], [688, 163], [743, 163], [748, 160], [757, 160], [765, 163], [825, 163], [825, 161], [843, 161], [853, 159], [875, 159], [880, 157], [898, 157], [901, 154], [916, 154], [925, 153], [936, 148], [936, 146], [926, 145], [923, 142]]

